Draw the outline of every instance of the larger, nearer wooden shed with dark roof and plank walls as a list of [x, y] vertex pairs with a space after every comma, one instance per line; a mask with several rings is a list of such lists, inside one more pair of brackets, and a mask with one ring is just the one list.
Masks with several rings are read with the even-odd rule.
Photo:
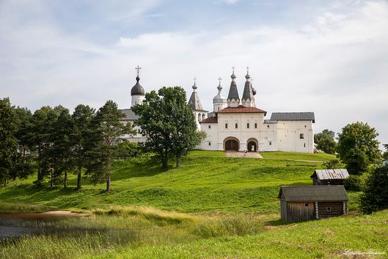
[[281, 219], [302, 222], [346, 214], [348, 194], [344, 186], [281, 186]]

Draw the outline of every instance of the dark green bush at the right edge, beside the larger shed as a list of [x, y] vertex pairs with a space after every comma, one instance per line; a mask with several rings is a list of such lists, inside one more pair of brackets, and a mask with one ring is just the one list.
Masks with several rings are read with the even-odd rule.
[[360, 201], [364, 213], [388, 209], [388, 165], [377, 167], [368, 176]]

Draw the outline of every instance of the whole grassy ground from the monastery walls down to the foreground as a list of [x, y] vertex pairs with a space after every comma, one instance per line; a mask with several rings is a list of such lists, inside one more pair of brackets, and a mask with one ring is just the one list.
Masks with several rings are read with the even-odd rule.
[[[279, 220], [279, 186], [311, 184], [327, 154], [274, 152], [265, 159], [194, 151], [181, 168], [150, 159], [114, 164], [112, 192], [84, 181], [37, 189], [35, 176], [0, 188], [0, 211], [83, 210], [90, 217], [41, 223], [51, 234], [1, 243], [0, 258], [369, 258], [388, 254], [388, 211], [298, 224]], [[144, 207], [145, 206], [145, 207]], [[26, 227], [30, 224], [25, 223]], [[63, 229], [66, 233], [63, 233]], [[57, 233], [56, 230], [59, 232]], [[349, 255], [346, 253], [350, 253]]]

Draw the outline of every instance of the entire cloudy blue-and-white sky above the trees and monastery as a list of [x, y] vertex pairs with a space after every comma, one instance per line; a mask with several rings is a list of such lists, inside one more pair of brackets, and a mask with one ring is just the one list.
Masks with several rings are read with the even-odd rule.
[[388, 1], [0, 0], [0, 97], [44, 105], [131, 106], [146, 91], [197, 78], [212, 111], [231, 67], [249, 66], [256, 106], [315, 112], [315, 132], [363, 121], [388, 143]]

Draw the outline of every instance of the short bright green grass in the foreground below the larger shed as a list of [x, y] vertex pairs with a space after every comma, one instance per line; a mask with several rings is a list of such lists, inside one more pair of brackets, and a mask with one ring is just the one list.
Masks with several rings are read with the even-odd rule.
[[[97, 258], [387, 258], [387, 213], [264, 226], [253, 235], [169, 246], [119, 248]], [[346, 252], [366, 255], [346, 256]], [[368, 255], [370, 252], [382, 254]]]

